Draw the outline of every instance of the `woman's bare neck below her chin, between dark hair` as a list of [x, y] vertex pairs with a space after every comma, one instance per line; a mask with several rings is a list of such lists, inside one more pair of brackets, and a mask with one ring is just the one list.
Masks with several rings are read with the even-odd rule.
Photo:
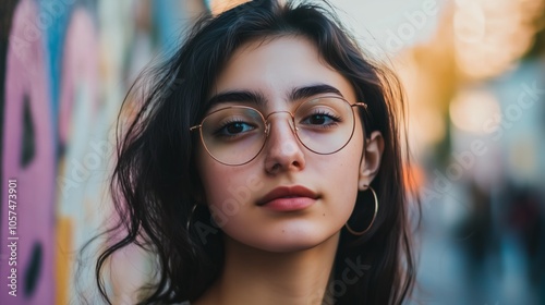
[[270, 253], [226, 236], [218, 281], [195, 304], [320, 305], [331, 274], [339, 233], [293, 253]]

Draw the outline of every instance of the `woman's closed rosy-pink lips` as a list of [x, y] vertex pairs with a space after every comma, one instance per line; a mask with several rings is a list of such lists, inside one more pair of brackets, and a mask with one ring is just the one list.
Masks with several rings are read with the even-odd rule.
[[257, 200], [257, 206], [277, 211], [295, 211], [307, 208], [318, 198], [318, 194], [301, 185], [279, 186]]

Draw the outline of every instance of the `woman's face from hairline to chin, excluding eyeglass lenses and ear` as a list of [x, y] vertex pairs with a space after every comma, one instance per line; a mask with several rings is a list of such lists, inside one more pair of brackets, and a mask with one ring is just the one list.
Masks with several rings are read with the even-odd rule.
[[[323, 91], [327, 87], [338, 93]], [[350, 83], [301, 37], [250, 42], [235, 51], [210, 98], [233, 91], [252, 93], [262, 102], [219, 102], [208, 113], [233, 105], [254, 107], [264, 117], [275, 111], [293, 113], [301, 102], [320, 96], [358, 101]], [[302, 94], [294, 99], [294, 91]], [[310, 248], [337, 234], [352, 212], [359, 188], [363, 131], [359, 115], [354, 117], [351, 141], [331, 155], [304, 147], [286, 112], [269, 117], [265, 146], [245, 164], [220, 163], [201, 144], [197, 167], [205, 199], [222, 231], [268, 252]]]

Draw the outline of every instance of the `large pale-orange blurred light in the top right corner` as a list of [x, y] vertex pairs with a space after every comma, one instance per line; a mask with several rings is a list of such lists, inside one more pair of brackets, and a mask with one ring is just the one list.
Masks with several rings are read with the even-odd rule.
[[543, 0], [457, 0], [456, 60], [463, 75], [482, 80], [509, 70], [533, 44]]

